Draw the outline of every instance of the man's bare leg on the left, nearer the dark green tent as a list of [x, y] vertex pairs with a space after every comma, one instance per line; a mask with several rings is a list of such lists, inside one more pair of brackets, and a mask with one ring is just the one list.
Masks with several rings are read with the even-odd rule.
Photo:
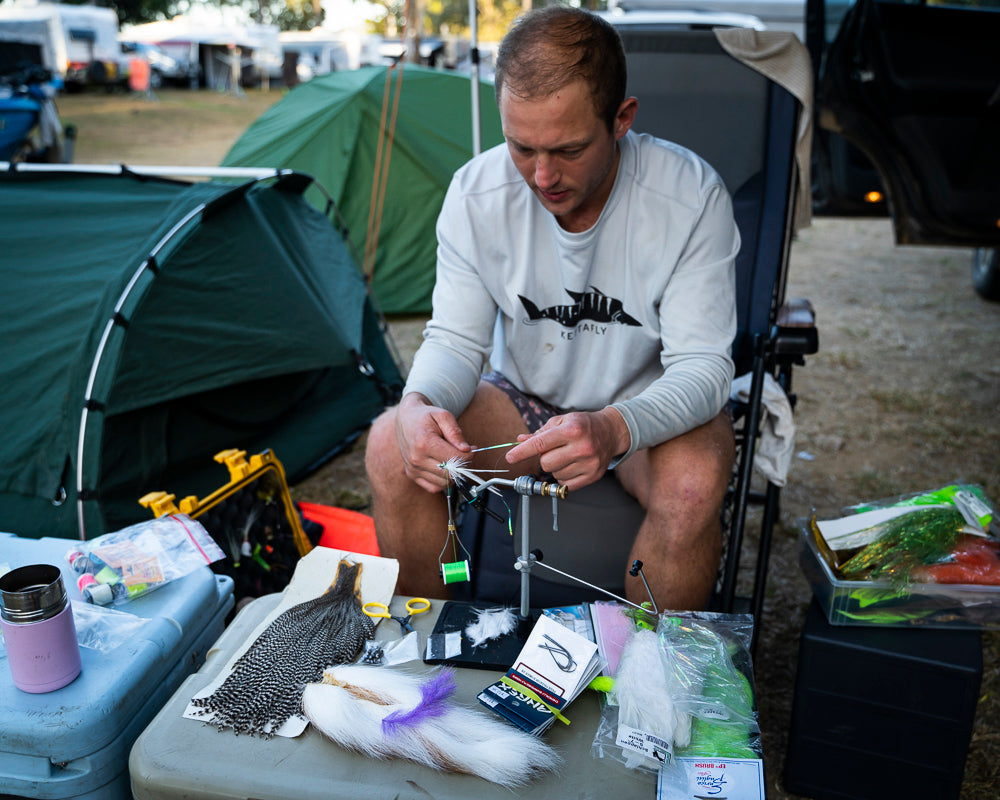
[[[507, 395], [489, 383], [479, 384], [458, 424], [473, 447], [511, 442], [528, 432]], [[398, 593], [447, 597], [438, 568], [448, 533], [445, 495], [427, 492], [406, 477], [395, 426], [396, 409], [390, 408], [372, 424], [365, 451], [379, 550], [399, 561]], [[502, 477], [513, 477], [518, 473], [504, 461], [503, 453], [502, 449], [475, 453], [469, 466], [502, 469]], [[537, 464], [533, 468], [537, 469]], [[449, 549], [444, 561], [452, 560], [450, 553]]]

